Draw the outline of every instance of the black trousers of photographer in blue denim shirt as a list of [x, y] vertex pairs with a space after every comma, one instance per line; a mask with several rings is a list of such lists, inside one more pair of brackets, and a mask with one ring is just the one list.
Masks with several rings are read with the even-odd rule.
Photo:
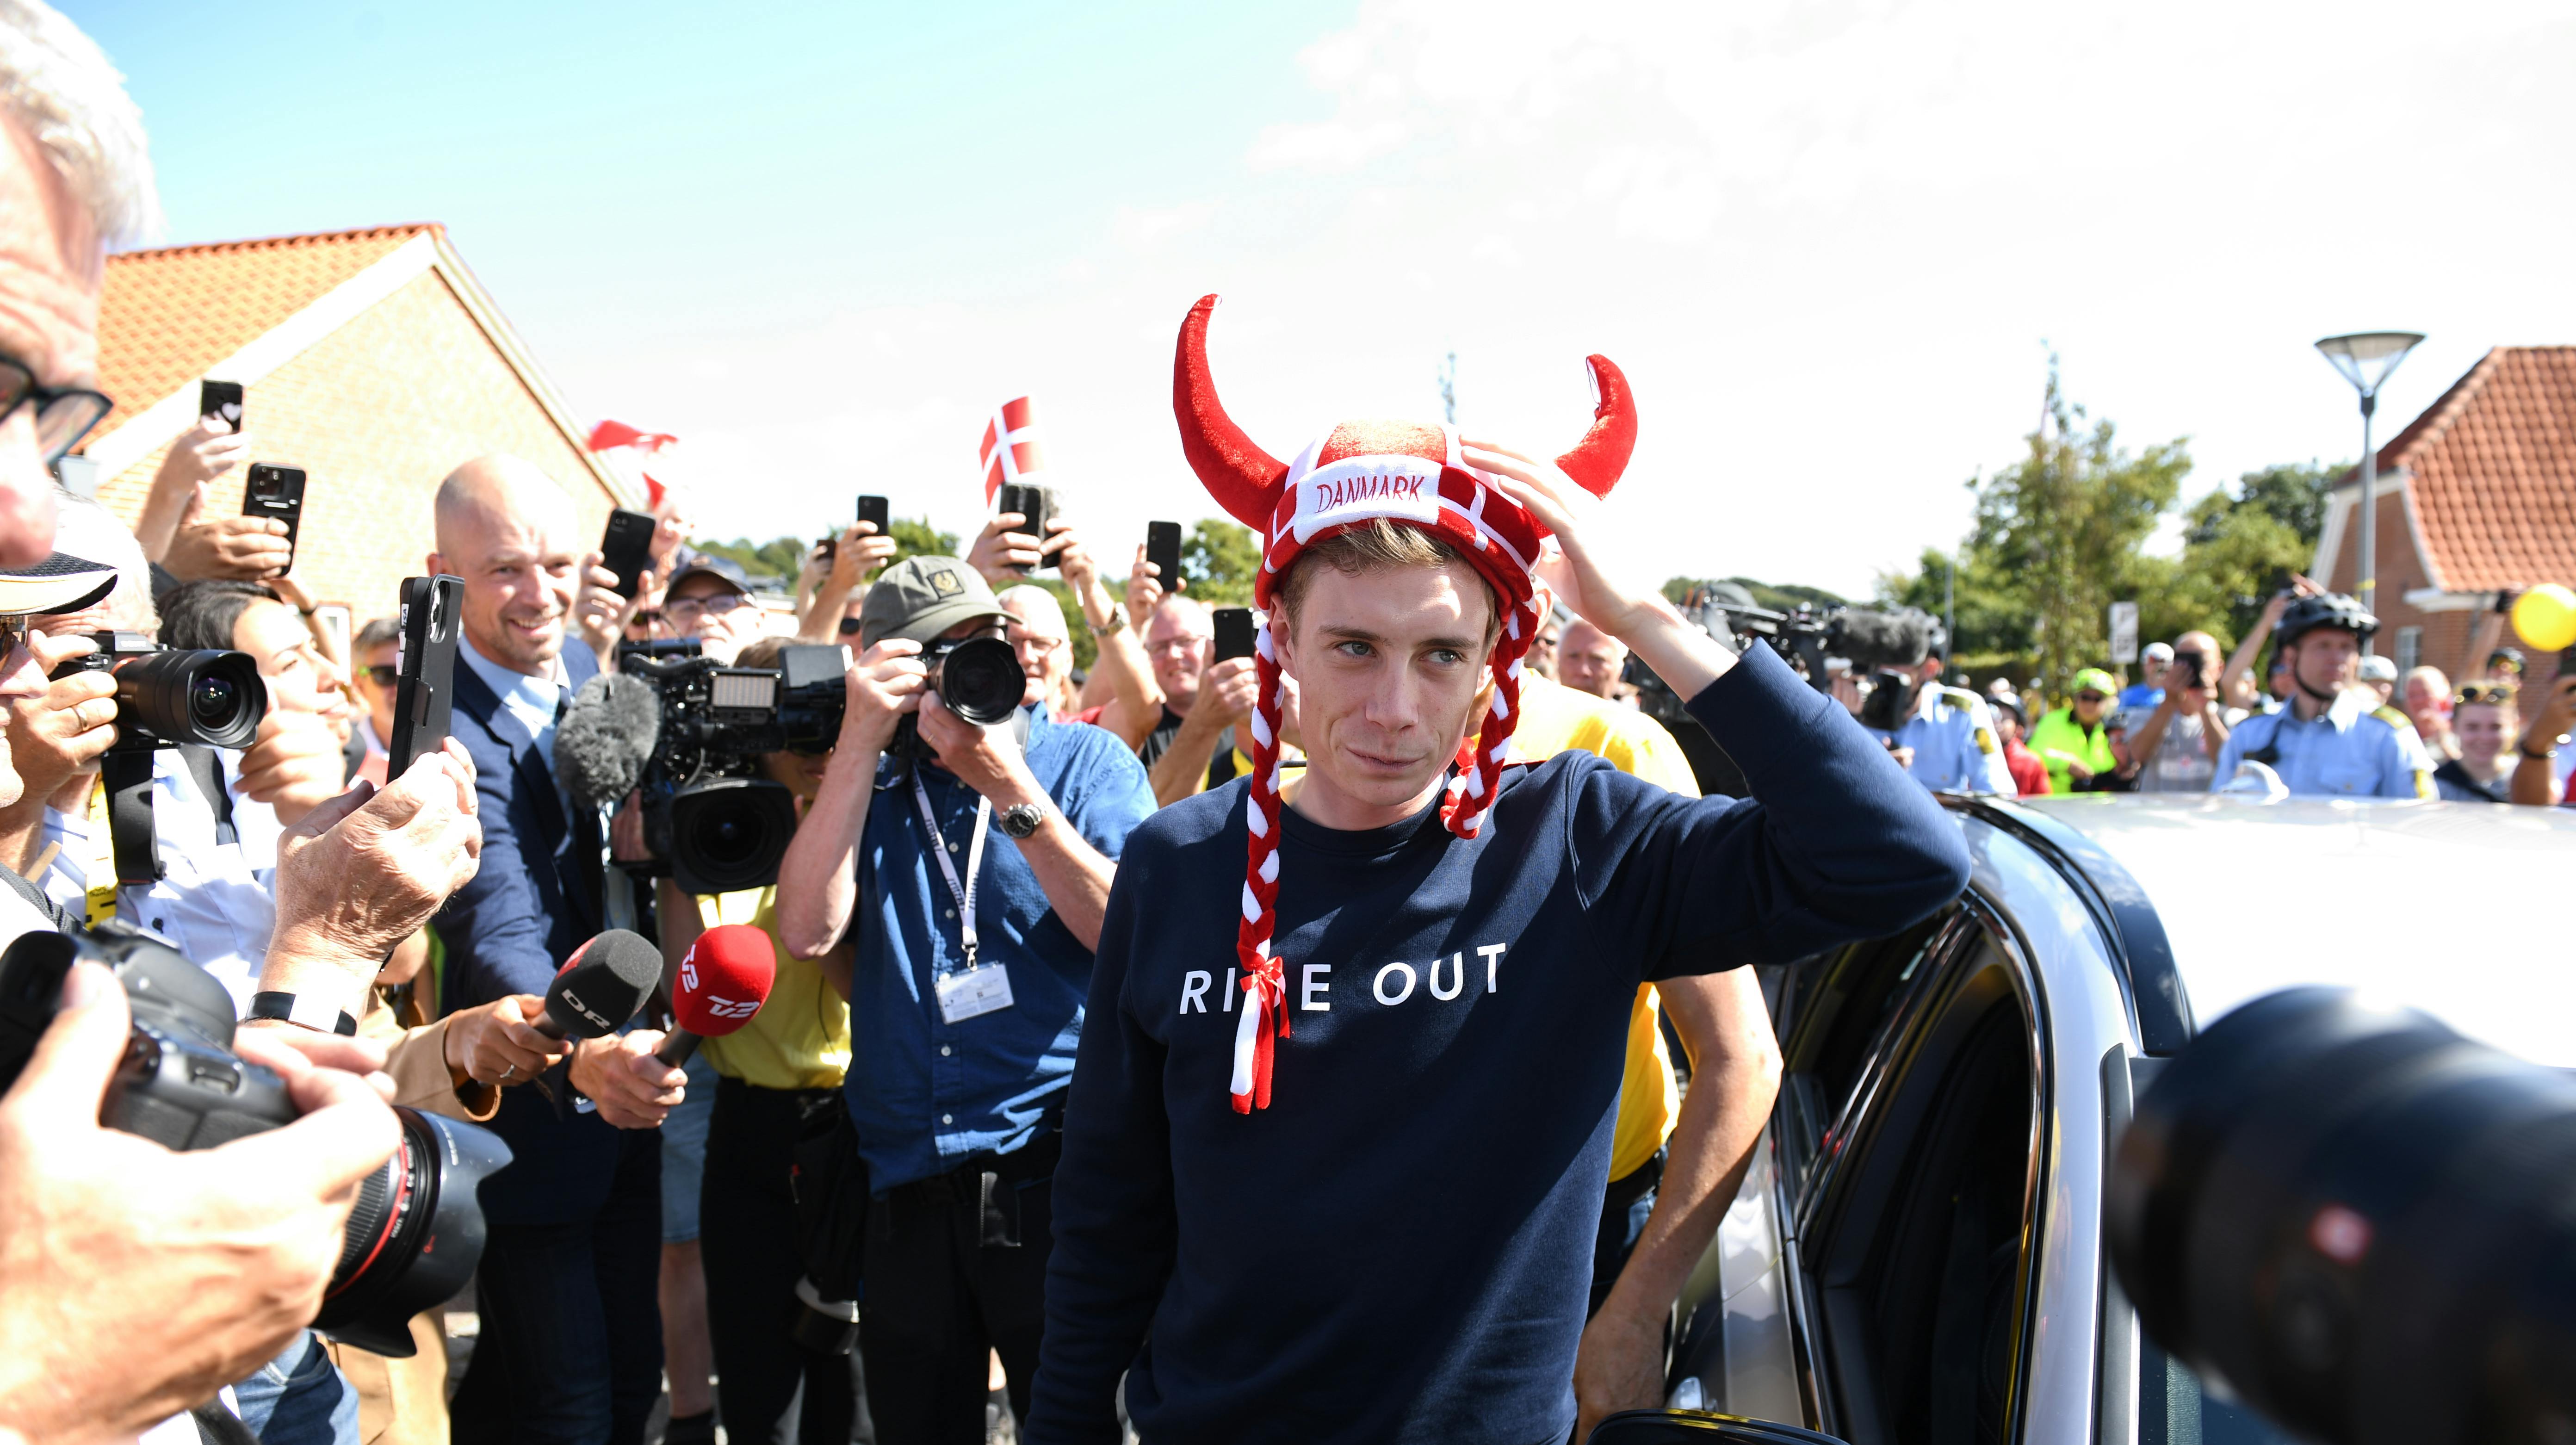
[[989, 1352], [1028, 1419], [1046, 1327], [1059, 1133], [886, 1190], [868, 1208], [858, 1347], [868, 1412], [899, 1445], [981, 1445]]

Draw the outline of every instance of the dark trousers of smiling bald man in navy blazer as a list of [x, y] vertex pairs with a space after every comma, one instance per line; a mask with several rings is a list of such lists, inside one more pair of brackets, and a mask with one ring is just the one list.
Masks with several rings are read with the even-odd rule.
[[574, 1223], [495, 1223], [482, 1329], [448, 1401], [456, 1445], [636, 1445], [662, 1396], [662, 1136], [618, 1138], [608, 1203]]

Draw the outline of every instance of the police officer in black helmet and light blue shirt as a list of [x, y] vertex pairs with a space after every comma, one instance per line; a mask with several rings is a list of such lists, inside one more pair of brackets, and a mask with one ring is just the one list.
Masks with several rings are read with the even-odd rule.
[[2293, 796], [2429, 798], [2432, 755], [2406, 713], [2354, 685], [2362, 639], [2380, 621], [2326, 592], [2290, 603], [2275, 639], [2290, 662], [2290, 706], [2249, 716], [2218, 755], [2213, 786], [2262, 762]]

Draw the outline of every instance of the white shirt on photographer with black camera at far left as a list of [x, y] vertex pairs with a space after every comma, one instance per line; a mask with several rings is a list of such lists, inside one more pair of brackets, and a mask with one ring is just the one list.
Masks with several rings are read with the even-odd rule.
[[[276, 809], [240, 793], [242, 755], [216, 750], [216, 757], [224, 760], [224, 786], [232, 791], [234, 842], [214, 840], [214, 801], [198, 791], [178, 750], [155, 752], [152, 835], [160, 840], [162, 878], [149, 889], [118, 889], [116, 912], [222, 979], [232, 992], [232, 1007], [250, 1012], [250, 994], [260, 992], [260, 966], [268, 961], [268, 938], [278, 927], [270, 883], [283, 829]], [[57, 850], [33, 883], [80, 914], [90, 868], [113, 876], [116, 860], [106, 855], [106, 840], [93, 840], [85, 809], [70, 814], [46, 809], [44, 842]], [[95, 863], [93, 850], [98, 850]]]

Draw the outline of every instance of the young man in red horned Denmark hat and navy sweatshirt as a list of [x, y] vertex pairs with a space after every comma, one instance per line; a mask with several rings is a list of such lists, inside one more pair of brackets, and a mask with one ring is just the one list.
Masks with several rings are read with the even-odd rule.
[[[1157, 1445], [1564, 1440], [1636, 987], [1891, 932], [1968, 855], [1777, 657], [1736, 662], [1592, 562], [1569, 502], [1636, 438], [1607, 361], [1558, 466], [1345, 422], [1291, 469], [1216, 402], [1213, 301], [1182, 327], [1175, 410], [1200, 479], [1270, 538], [1255, 768], [1128, 840], [1023, 1437], [1118, 1440], [1123, 1375]], [[1548, 531], [1556, 592], [1692, 698], [1759, 804], [1584, 752], [1504, 770]], [[1311, 757], [1293, 811], [1283, 672]]]

